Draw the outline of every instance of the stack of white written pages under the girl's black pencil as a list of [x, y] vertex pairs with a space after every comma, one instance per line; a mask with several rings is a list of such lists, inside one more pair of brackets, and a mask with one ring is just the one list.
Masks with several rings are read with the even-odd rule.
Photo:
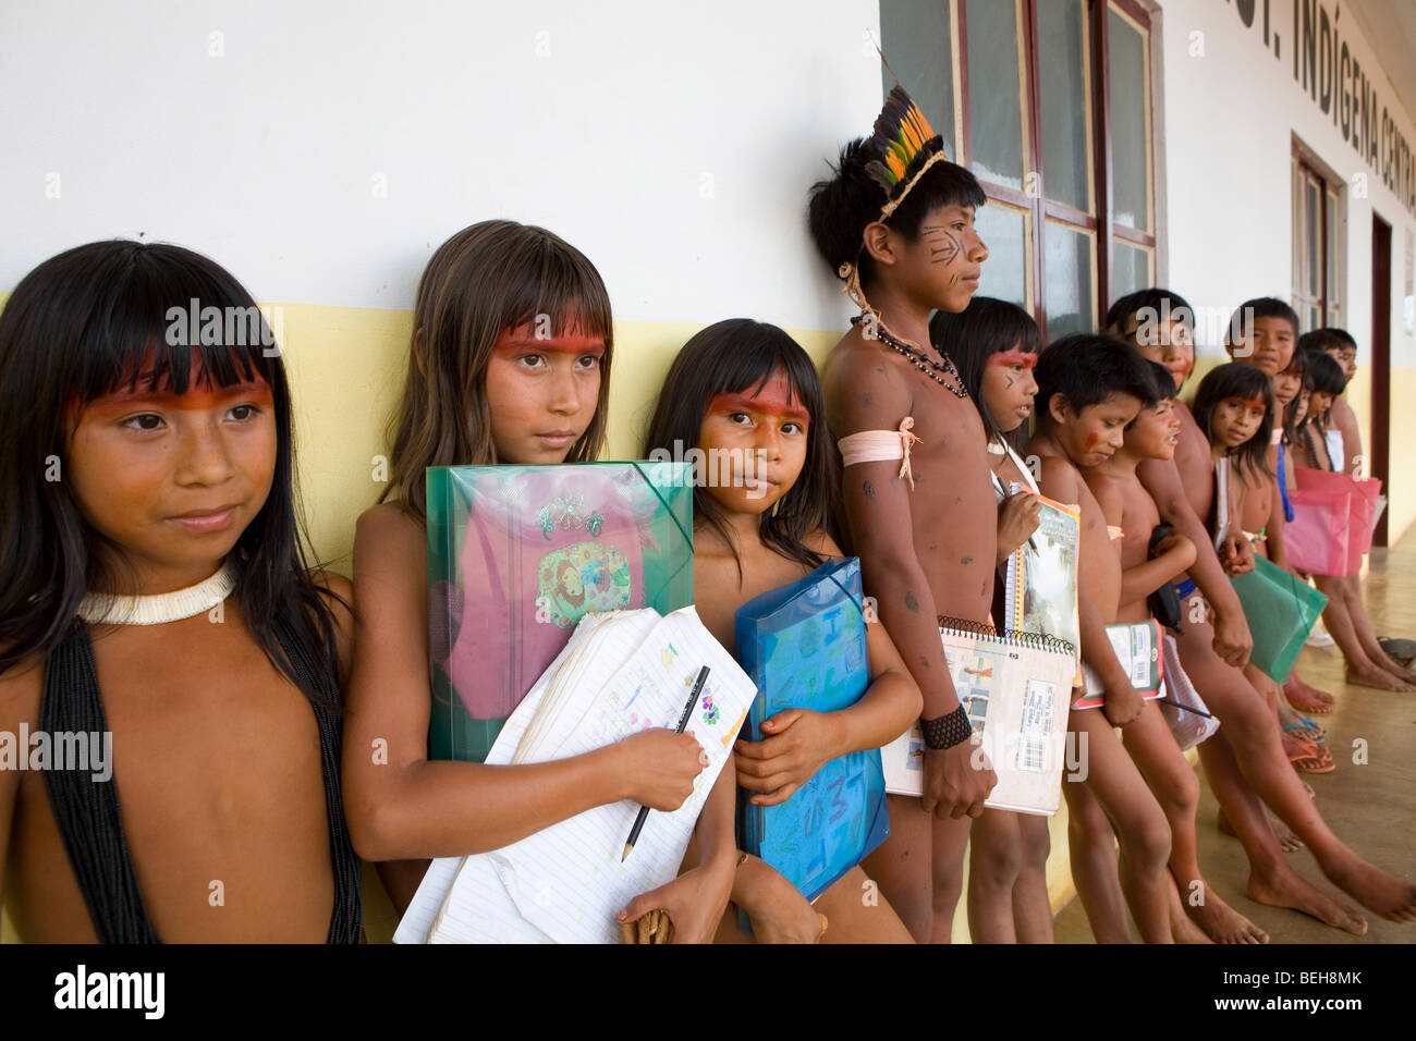
[[615, 943], [616, 912], [678, 872], [694, 823], [756, 688], [692, 608], [586, 615], [507, 719], [487, 763], [565, 759], [649, 727], [674, 727], [698, 670], [688, 727], [712, 765], [673, 813], [651, 812], [620, 863], [639, 804], [599, 806], [493, 853], [435, 860], [396, 943]]

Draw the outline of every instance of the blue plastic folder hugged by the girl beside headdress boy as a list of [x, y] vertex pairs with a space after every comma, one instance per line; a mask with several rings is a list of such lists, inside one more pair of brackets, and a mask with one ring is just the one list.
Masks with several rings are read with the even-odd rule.
[[[787, 708], [834, 712], [869, 684], [861, 562], [831, 559], [738, 609], [738, 661], [758, 686], [752, 741]], [[889, 836], [879, 749], [827, 762], [780, 806], [743, 802], [743, 848], [816, 899]]]

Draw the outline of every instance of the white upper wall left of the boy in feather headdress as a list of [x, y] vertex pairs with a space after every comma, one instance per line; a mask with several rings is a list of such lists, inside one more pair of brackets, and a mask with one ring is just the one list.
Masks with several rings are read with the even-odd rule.
[[10, 0], [0, 292], [144, 235], [259, 299], [405, 309], [442, 239], [511, 217], [620, 319], [840, 329], [804, 205], [879, 108], [867, 31], [874, 0]]

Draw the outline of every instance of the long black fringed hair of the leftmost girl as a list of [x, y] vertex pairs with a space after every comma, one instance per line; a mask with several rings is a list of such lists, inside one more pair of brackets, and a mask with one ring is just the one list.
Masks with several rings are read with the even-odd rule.
[[[218, 309], [221, 343], [205, 343], [204, 322], [188, 327], [193, 307], [197, 314]], [[173, 320], [174, 309], [183, 320]], [[232, 314], [241, 316], [239, 331], [232, 329]], [[6, 446], [0, 452], [0, 673], [58, 644], [86, 592], [126, 595], [137, 588], [123, 548], [89, 527], [69, 482], [47, 479], [51, 460], [59, 460], [61, 477], [69, 465], [68, 442], [81, 408], [140, 385], [184, 394], [191, 387], [229, 387], [259, 375], [273, 401], [275, 474], [265, 506], [227, 562], [256, 642], [312, 701], [326, 704], [300, 680], [275, 636], [283, 615], [303, 647], [319, 654], [331, 676], [338, 674], [334, 618], [324, 599], [336, 593], [321, 593], [307, 571], [303, 547], [309, 538], [295, 494], [290, 388], [273, 344], [265, 317], [241, 283], [181, 246], [91, 242], [50, 258], [16, 286], [0, 313], [0, 438]]]

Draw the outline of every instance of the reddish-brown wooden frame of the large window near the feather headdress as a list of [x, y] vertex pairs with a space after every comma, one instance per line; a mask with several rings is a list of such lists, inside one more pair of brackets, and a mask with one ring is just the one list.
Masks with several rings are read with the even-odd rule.
[[[1045, 0], [1042, 0], [1045, 1]], [[1089, 180], [1092, 183], [1095, 208], [1093, 214], [1083, 212], [1063, 203], [1046, 198], [1046, 170], [1042, 159], [1042, 99], [1041, 75], [1038, 58], [1038, 3], [1039, 0], [1014, 0], [1014, 11], [1020, 31], [1020, 101], [1022, 103], [1022, 149], [1024, 149], [1024, 184], [1032, 173], [1041, 174], [1044, 191], [1035, 197], [1027, 191], [998, 184], [995, 181], [978, 178], [984, 193], [990, 200], [1005, 203], [1012, 208], [1027, 214], [1024, 227], [1028, 231], [1025, 242], [1025, 256], [1028, 258], [1027, 302], [1042, 330], [1048, 336], [1046, 312], [1046, 249], [1045, 235], [1048, 224], [1061, 225], [1069, 231], [1086, 234], [1092, 239], [1092, 290], [1093, 290], [1093, 320], [1100, 324], [1112, 302], [1112, 280], [1114, 271], [1114, 244], [1121, 241], [1127, 245], [1141, 246], [1150, 254], [1151, 278], [1158, 265], [1158, 248], [1155, 228], [1158, 215], [1155, 212], [1155, 119], [1154, 119], [1154, 69], [1151, 65], [1151, 17], [1136, 0], [1083, 0], [1086, 11], [1086, 28], [1083, 35], [1083, 76], [1090, 82], [1087, 123], [1090, 129]], [[969, 93], [969, 13], [964, 0], [949, 0], [950, 25], [953, 28], [950, 50], [954, 69], [954, 139], [959, 146], [959, 163], [973, 167], [973, 132], [970, 125], [970, 93]], [[1117, 224], [1113, 207], [1112, 184], [1112, 102], [1110, 102], [1110, 51], [1109, 51], [1109, 16], [1116, 8], [1123, 17], [1141, 30], [1144, 35], [1146, 55], [1146, 197], [1148, 225], [1151, 231]], [[1102, 229], [1107, 229], [1104, 237]]]

